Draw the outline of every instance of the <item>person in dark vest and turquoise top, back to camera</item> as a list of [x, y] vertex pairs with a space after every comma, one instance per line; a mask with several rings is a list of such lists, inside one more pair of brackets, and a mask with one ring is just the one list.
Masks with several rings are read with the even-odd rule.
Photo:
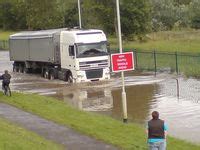
[[147, 124], [149, 150], [166, 150], [167, 125], [159, 119], [157, 111], [152, 112], [152, 119]]

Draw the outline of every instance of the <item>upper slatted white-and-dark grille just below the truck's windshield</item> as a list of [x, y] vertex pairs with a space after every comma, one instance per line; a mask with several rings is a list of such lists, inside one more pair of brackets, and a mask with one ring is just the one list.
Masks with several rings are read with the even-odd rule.
[[108, 60], [79, 62], [80, 70], [91, 70], [99, 68], [107, 68], [109, 66]]

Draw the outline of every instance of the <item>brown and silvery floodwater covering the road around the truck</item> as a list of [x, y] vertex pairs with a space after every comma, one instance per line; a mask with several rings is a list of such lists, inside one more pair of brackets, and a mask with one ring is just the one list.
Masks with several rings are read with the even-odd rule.
[[[9, 53], [0, 51], [0, 74], [12, 71]], [[38, 93], [85, 111], [97, 112], [122, 120], [121, 80], [119, 75], [104, 82], [69, 85], [60, 80], [47, 80], [39, 75], [11, 73], [11, 89]], [[151, 112], [169, 126], [169, 134], [200, 143], [200, 81], [179, 77], [180, 98], [177, 98], [176, 76], [128, 73], [125, 77], [128, 120], [145, 126]]]

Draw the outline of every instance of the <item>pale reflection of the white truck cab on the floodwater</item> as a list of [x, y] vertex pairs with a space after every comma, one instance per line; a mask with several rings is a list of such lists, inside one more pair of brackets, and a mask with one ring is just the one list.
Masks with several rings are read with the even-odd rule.
[[113, 108], [113, 98], [109, 88], [80, 89], [76, 85], [73, 87], [72, 89], [63, 88], [60, 91], [63, 100], [71, 106], [86, 111], [108, 111]]

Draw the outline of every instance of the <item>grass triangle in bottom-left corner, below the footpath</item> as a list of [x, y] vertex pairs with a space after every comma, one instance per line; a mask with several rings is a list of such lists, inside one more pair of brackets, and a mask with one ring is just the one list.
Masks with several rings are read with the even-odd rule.
[[61, 150], [62, 147], [0, 118], [0, 149]]

